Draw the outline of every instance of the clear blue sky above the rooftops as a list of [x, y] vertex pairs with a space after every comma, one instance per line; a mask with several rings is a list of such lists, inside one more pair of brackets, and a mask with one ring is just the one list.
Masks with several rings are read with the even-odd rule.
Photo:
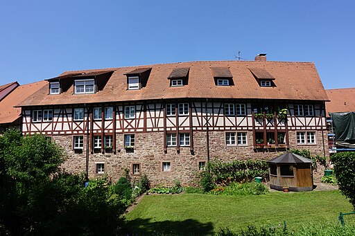
[[314, 62], [326, 89], [355, 87], [355, 2], [1, 1], [0, 84], [168, 62]]

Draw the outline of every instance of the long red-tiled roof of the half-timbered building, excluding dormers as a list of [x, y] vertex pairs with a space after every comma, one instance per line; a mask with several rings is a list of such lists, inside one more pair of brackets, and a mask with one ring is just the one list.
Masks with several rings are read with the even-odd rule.
[[[189, 82], [182, 87], [170, 87], [166, 80], [176, 69], [189, 68]], [[215, 68], [227, 68], [234, 85], [218, 87], [214, 80]], [[146, 86], [139, 90], [127, 89], [127, 75], [151, 69]], [[275, 78], [275, 87], [260, 87], [250, 69], [268, 71]], [[67, 71], [61, 76], [102, 70]], [[154, 64], [110, 69], [114, 71], [101, 91], [75, 94], [73, 88], [50, 95], [43, 87], [20, 106], [64, 105], [128, 100], [175, 98], [243, 98], [270, 100], [328, 100], [315, 66], [311, 62], [217, 61]], [[223, 74], [224, 75], [224, 74]], [[71, 87], [73, 84], [71, 84]]]

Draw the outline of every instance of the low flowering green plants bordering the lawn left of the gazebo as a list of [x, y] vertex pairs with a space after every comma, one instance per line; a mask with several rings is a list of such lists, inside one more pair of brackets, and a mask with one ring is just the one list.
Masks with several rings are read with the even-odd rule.
[[268, 188], [266, 185], [262, 183], [237, 183], [233, 182], [227, 187], [224, 188], [221, 194], [225, 195], [261, 195], [266, 194], [268, 192]]

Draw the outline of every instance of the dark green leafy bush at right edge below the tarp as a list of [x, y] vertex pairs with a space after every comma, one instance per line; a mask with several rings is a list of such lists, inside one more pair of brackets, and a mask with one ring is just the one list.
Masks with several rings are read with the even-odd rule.
[[355, 210], [355, 152], [340, 152], [331, 156], [334, 174], [341, 193], [349, 199]]

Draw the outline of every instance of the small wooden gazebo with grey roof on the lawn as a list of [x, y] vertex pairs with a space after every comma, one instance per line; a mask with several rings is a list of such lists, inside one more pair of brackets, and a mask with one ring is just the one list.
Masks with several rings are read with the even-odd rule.
[[303, 156], [286, 152], [268, 161], [270, 188], [290, 191], [312, 191], [312, 161]]

